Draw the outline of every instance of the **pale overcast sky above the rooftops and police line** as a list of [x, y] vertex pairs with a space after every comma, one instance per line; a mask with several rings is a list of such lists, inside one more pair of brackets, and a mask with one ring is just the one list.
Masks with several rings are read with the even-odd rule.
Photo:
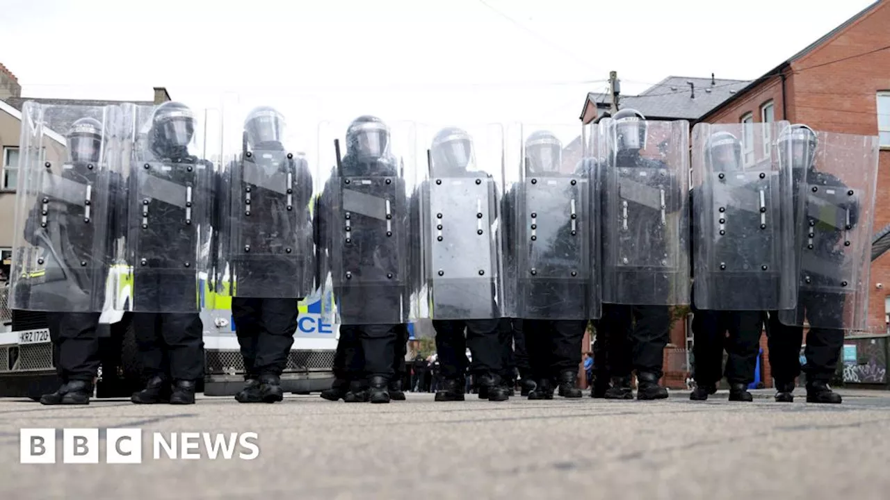
[[223, 123], [264, 101], [309, 143], [320, 121], [364, 114], [571, 141], [611, 70], [625, 94], [753, 79], [871, 1], [0, 0], [0, 62], [26, 97], [150, 101], [166, 86]]

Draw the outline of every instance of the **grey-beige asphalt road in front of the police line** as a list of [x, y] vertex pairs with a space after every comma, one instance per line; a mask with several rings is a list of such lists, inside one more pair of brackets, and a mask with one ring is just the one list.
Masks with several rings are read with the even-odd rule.
[[[41, 407], [0, 399], [0, 498], [594, 498], [782, 500], [890, 497], [890, 393], [840, 406], [522, 398], [389, 405], [317, 395], [275, 405]], [[20, 429], [99, 428], [100, 464], [20, 464]], [[105, 464], [105, 430], [142, 428], [142, 464]], [[258, 434], [254, 460], [152, 456], [152, 431]], [[61, 448], [61, 431], [57, 445]], [[241, 449], [241, 448], [238, 448]], [[246, 450], [249, 451], [249, 450]]]

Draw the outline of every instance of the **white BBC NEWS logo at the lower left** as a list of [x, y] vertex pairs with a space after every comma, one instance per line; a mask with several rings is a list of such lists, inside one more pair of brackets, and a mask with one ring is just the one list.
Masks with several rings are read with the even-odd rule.
[[[151, 432], [151, 457], [160, 460], [254, 460], [260, 456], [256, 432]], [[63, 464], [99, 464], [100, 449], [106, 464], [142, 464], [142, 429], [107, 429], [105, 446], [99, 429], [62, 429]], [[21, 464], [55, 464], [56, 430], [21, 429]]]

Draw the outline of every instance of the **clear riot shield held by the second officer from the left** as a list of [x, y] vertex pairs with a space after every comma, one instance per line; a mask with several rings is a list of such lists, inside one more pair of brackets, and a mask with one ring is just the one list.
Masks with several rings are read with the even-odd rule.
[[179, 102], [124, 106], [125, 310], [198, 312], [212, 281], [221, 113]]

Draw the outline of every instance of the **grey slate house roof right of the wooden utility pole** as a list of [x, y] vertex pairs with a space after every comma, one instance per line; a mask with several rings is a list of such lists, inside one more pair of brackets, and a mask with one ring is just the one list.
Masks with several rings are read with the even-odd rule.
[[[643, 93], [620, 96], [619, 106], [636, 109], [651, 119], [696, 120], [749, 83], [723, 78], [667, 77]], [[588, 101], [598, 108], [608, 108], [611, 98], [607, 93], [588, 93], [585, 107]], [[581, 114], [583, 117], [583, 110]]]

